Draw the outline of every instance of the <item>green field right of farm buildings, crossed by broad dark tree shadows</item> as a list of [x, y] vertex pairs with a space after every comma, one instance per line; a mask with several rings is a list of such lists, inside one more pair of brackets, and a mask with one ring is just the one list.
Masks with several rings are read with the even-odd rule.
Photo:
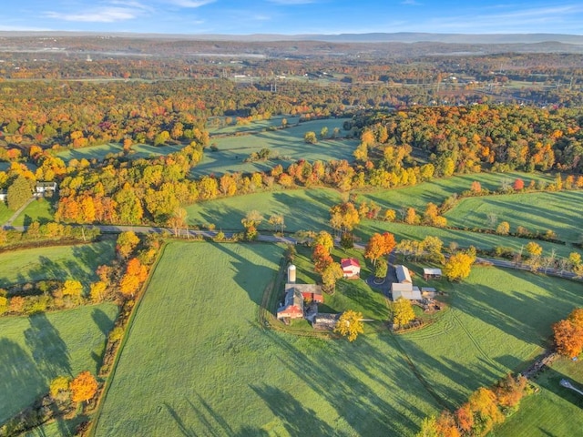
[[414, 283], [445, 291], [451, 308], [434, 324], [398, 341], [450, 408], [506, 372], [524, 370], [550, 346], [551, 325], [583, 306], [583, 283], [567, 279], [475, 267], [461, 283], [426, 283], [422, 269], [414, 271]]

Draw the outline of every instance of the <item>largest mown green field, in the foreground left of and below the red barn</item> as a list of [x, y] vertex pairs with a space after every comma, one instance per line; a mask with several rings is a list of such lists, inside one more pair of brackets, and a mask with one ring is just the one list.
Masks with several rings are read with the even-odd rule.
[[436, 412], [387, 332], [263, 330], [275, 245], [170, 243], [97, 422], [109, 435], [412, 435]]

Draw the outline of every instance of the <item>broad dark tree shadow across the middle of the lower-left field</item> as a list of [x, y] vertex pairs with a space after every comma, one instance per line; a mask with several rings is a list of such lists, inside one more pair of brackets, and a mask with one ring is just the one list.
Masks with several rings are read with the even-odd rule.
[[26, 346], [38, 370], [49, 380], [61, 375], [73, 376], [66, 343], [46, 314], [35, 314], [28, 321], [30, 328], [25, 330]]

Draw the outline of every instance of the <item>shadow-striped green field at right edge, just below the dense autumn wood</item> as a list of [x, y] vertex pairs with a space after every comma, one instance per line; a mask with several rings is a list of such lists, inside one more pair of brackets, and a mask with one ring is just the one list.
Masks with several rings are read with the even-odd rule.
[[[487, 215], [496, 215], [492, 227]], [[523, 226], [531, 231], [557, 233], [557, 238], [577, 242], [583, 227], [583, 191], [554, 191], [482, 198], [464, 198], [445, 214], [448, 225], [460, 228], [496, 229], [507, 221], [510, 230]]]

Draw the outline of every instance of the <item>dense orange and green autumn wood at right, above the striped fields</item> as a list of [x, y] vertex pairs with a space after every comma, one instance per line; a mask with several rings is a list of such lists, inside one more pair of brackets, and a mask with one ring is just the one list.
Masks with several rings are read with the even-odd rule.
[[[583, 117], [575, 109], [414, 107], [365, 115], [354, 123], [373, 139], [363, 152], [373, 148], [386, 155], [415, 147], [442, 176], [483, 169], [583, 173]], [[394, 165], [394, 158], [384, 157], [383, 164]]]

